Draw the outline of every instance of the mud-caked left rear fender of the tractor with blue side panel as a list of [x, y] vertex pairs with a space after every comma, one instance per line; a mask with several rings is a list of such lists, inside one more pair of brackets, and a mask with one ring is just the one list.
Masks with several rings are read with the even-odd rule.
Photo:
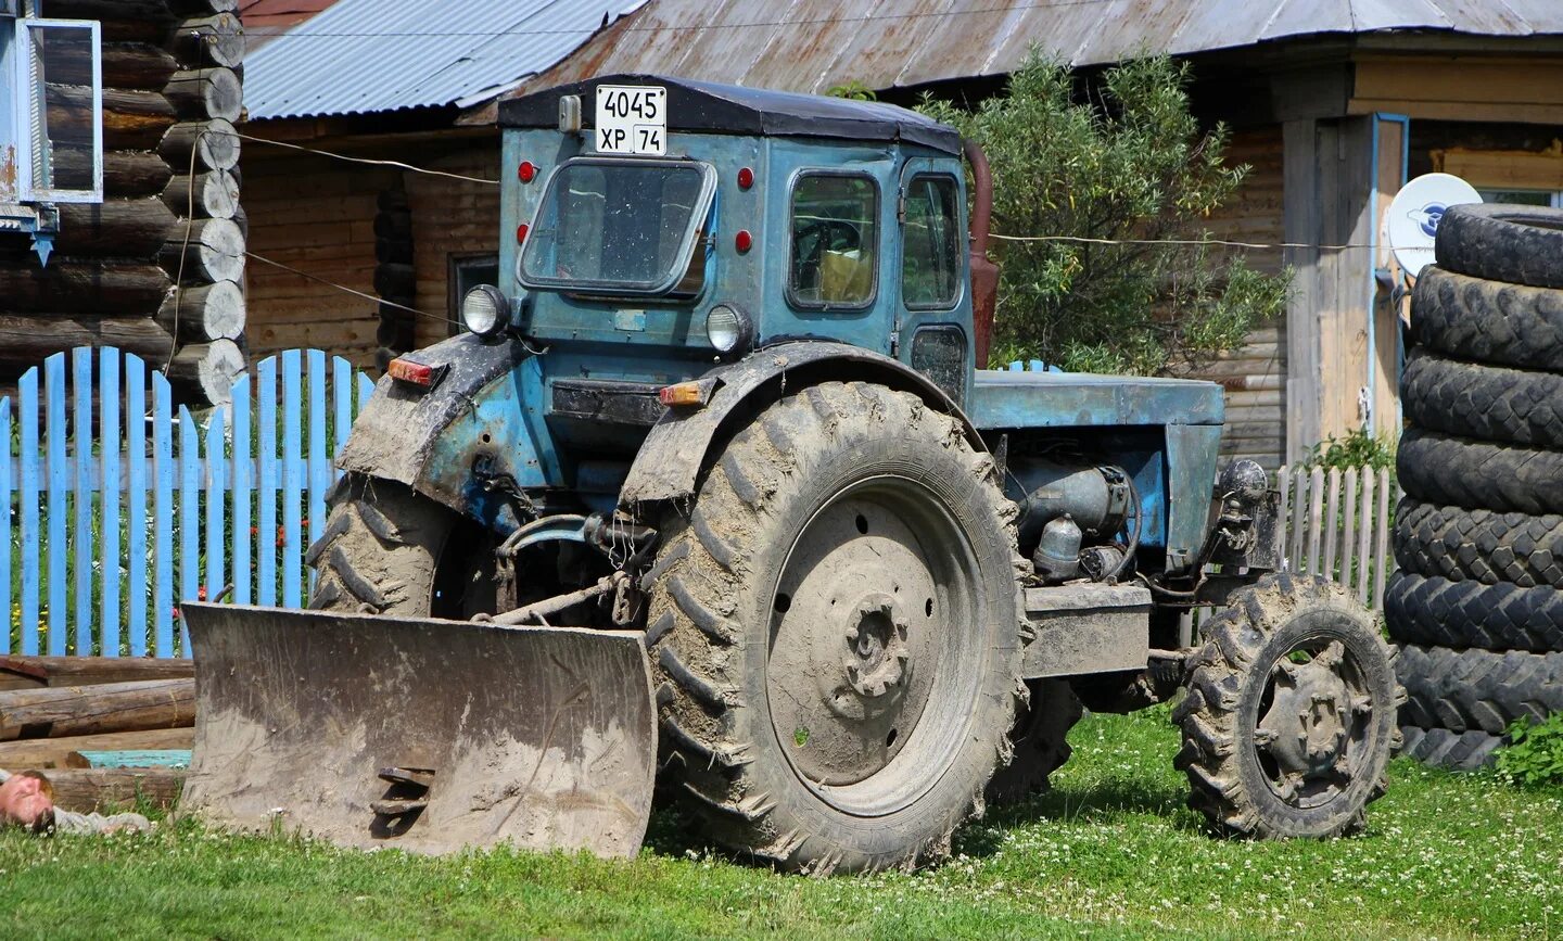
[[431, 366], [433, 388], [380, 377], [338, 467], [405, 483], [485, 525], [513, 528], [503, 491], [556, 477], [542, 416], [527, 408], [541, 400], [536, 358], [519, 339], [464, 333], [402, 360]]

